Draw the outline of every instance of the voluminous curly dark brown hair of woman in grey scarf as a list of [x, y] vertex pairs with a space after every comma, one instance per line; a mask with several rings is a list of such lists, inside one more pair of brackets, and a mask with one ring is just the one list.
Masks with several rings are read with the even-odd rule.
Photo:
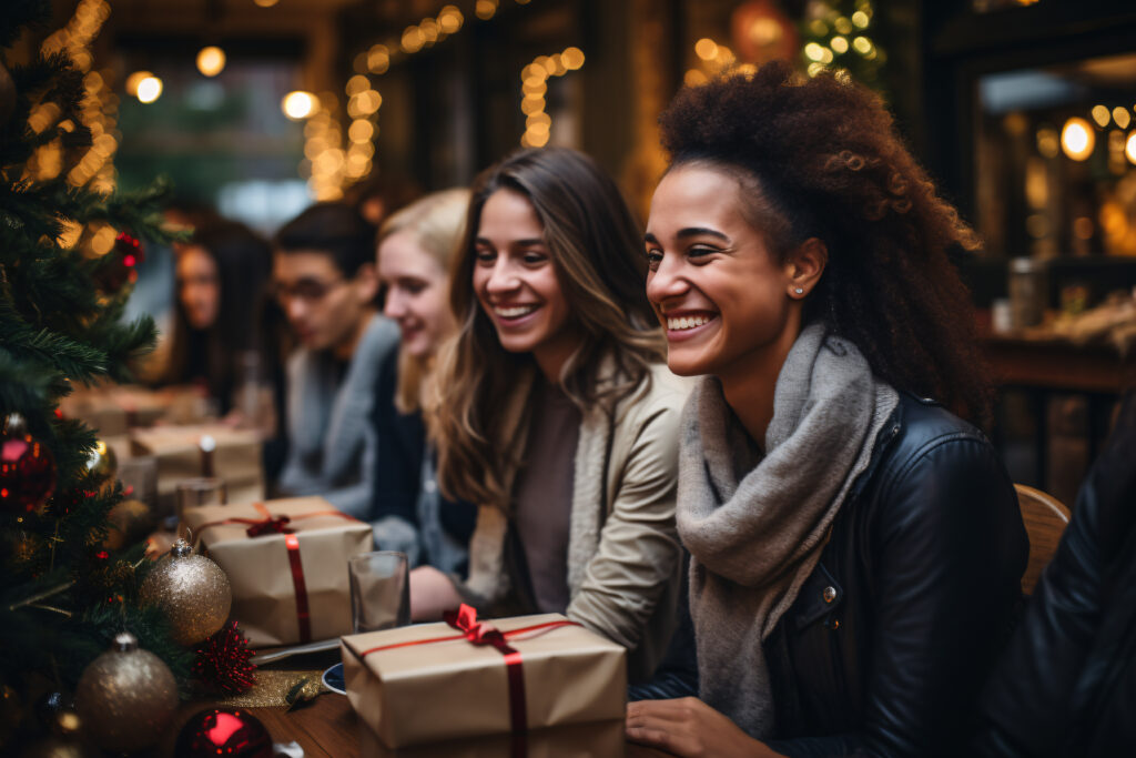
[[970, 295], [947, 258], [978, 238], [936, 194], [879, 98], [784, 61], [678, 93], [660, 117], [671, 168], [734, 176], [746, 218], [784, 258], [809, 238], [828, 265], [804, 306], [901, 390], [988, 419]]

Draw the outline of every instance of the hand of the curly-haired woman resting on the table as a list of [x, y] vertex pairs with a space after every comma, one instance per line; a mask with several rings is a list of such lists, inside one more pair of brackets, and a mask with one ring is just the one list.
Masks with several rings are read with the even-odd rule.
[[627, 739], [683, 758], [766, 758], [769, 747], [698, 698], [627, 703]]

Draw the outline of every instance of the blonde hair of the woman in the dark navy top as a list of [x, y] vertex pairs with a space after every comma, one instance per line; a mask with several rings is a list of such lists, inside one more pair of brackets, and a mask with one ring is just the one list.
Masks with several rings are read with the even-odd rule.
[[[383, 223], [378, 231], [377, 245], [398, 232], [409, 232], [418, 247], [431, 255], [442, 267], [450, 270], [453, 252], [461, 242], [466, 227], [466, 210], [469, 207], [469, 190], [465, 188], [443, 190], [427, 194]], [[423, 378], [429, 376], [433, 356], [416, 357], [399, 351], [399, 382], [394, 391], [394, 407], [400, 413], [410, 414], [423, 407]]]

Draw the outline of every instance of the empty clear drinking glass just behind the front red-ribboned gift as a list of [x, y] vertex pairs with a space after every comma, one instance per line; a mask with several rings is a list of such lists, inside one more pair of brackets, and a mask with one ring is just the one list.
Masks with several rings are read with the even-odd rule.
[[407, 553], [362, 552], [348, 558], [351, 623], [356, 633], [406, 626], [410, 623], [410, 582]]

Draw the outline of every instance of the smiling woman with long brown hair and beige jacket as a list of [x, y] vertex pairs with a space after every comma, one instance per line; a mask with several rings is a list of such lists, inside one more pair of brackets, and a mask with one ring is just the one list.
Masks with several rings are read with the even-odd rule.
[[468, 581], [415, 569], [411, 614], [563, 613], [644, 680], [676, 617], [687, 385], [662, 364], [641, 227], [574, 150], [516, 152], [473, 193], [431, 423], [443, 492], [478, 503], [477, 526]]

